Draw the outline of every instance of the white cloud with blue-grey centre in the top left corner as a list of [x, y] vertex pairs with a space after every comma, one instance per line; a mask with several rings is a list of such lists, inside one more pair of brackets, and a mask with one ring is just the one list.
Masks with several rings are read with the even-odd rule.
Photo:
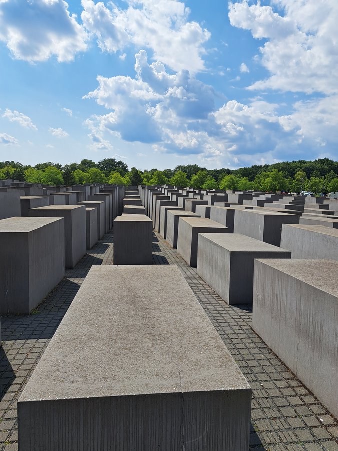
[[86, 50], [87, 34], [64, 0], [2, 0], [0, 41], [16, 59], [72, 61]]

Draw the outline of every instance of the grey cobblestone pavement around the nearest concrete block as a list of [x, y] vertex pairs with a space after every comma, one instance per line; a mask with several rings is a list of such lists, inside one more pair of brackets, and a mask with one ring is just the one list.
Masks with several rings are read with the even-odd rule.
[[[90, 267], [112, 263], [110, 233], [74, 269], [66, 271], [65, 278], [31, 315], [1, 318], [0, 451], [18, 449], [17, 399]], [[153, 263], [180, 268], [250, 383], [253, 390], [250, 449], [338, 451], [336, 419], [252, 330], [252, 306], [227, 305], [197, 275], [196, 269], [190, 268], [156, 233]]]

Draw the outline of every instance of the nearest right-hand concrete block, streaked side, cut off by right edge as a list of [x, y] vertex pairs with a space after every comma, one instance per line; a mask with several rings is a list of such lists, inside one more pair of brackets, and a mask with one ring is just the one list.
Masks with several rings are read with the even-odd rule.
[[253, 328], [338, 417], [336, 274], [333, 260], [256, 260]]

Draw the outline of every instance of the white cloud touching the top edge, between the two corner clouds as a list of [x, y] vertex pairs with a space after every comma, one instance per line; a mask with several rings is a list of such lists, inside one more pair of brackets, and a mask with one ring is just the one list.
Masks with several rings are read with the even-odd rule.
[[210, 33], [197, 22], [188, 21], [190, 10], [183, 2], [129, 0], [126, 9], [114, 2], [108, 6], [93, 0], [81, 3], [83, 24], [103, 51], [115, 53], [133, 44], [151, 49], [154, 59], [175, 71], [204, 69], [203, 45]]

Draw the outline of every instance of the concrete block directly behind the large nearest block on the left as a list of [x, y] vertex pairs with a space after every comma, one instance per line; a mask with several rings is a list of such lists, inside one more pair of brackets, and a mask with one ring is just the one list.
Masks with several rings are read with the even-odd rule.
[[86, 254], [86, 208], [82, 205], [48, 205], [32, 208], [30, 216], [65, 219], [65, 267], [74, 268]]

